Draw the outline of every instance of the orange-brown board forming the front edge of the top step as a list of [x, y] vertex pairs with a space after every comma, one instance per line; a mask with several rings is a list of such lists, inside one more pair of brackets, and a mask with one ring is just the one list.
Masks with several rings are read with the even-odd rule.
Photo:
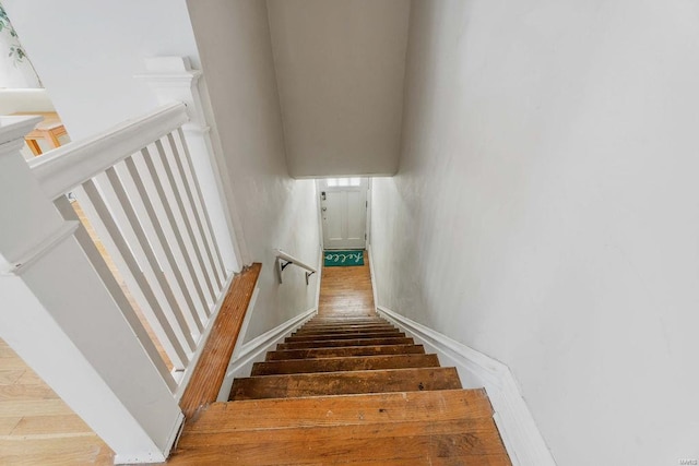
[[189, 432], [371, 425], [396, 421], [489, 418], [484, 389], [268, 398], [214, 403], [189, 423]]

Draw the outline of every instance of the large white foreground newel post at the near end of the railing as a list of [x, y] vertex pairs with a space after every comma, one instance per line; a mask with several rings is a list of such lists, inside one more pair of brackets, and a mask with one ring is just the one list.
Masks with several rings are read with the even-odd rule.
[[20, 153], [37, 121], [0, 117], [0, 337], [118, 463], [162, 462], [182, 414]]

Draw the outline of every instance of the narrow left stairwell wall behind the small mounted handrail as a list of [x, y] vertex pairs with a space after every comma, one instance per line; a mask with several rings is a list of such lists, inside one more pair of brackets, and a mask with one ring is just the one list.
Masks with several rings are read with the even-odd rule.
[[304, 271], [288, 267], [280, 285], [273, 249], [318, 263], [316, 188], [286, 169], [265, 2], [188, 4], [242, 229], [237, 238], [251, 261], [262, 262], [250, 340], [315, 306], [318, 276], [306, 286]]

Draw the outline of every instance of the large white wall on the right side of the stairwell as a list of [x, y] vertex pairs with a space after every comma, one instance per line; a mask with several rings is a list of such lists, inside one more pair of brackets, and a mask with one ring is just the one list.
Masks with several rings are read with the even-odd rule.
[[698, 14], [413, 3], [378, 303], [507, 363], [560, 465], [699, 458]]

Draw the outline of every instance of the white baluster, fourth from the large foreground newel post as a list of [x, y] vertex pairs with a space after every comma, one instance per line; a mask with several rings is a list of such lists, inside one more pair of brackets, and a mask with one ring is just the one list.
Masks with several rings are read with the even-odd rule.
[[189, 290], [189, 286], [185, 282], [185, 277], [182, 275], [180, 266], [175, 260], [173, 248], [170, 247], [170, 243], [166, 238], [165, 230], [163, 229], [163, 225], [155, 212], [155, 207], [153, 206], [153, 201], [151, 201], [151, 198], [145, 189], [145, 186], [143, 184], [143, 178], [141, 178], [141, 175], [139, 174], [139, 170], [135, 166], [135, 162], [133, 160], [133, 157], [127, 158], [125, 160], [125, 165], [127, 167], [127, 170], [129, 171], [129, 175], [131, 176], [131, 180], [133, 181], [133, 184], [137, 191], [139, 192], [138, 199], [143, 204], [145, 213], [149, 219], [151, 220], [151, 224], [153, 225], [153, 230], [155, 231], [155, 235], [157, 236], [157, 239], [158, 239], [157, 243], [161, 246], [161, 248], [163, 249], [163, 252], [165, 253], [170, 272], [175, 276], [175, 279], [177, 280], [177, 285], [179, 286], [179, 289], [182, 292], [185, 300], [187, 301], [187, 306], [190, 310], [190, 313], [192, 314], [192, 319], [196, 320], [197, 327], [201, 333], [203, 331], [203, 323], [204, 323], [204, 321], [202, 320], [202, 315], [206, 315], [205, 308], [202, 309], [203, 311], [202, 313], [199, 313], [197, 310], [197, 306], [194, 304], [194, 301], [192, 299], [191, 292]]

